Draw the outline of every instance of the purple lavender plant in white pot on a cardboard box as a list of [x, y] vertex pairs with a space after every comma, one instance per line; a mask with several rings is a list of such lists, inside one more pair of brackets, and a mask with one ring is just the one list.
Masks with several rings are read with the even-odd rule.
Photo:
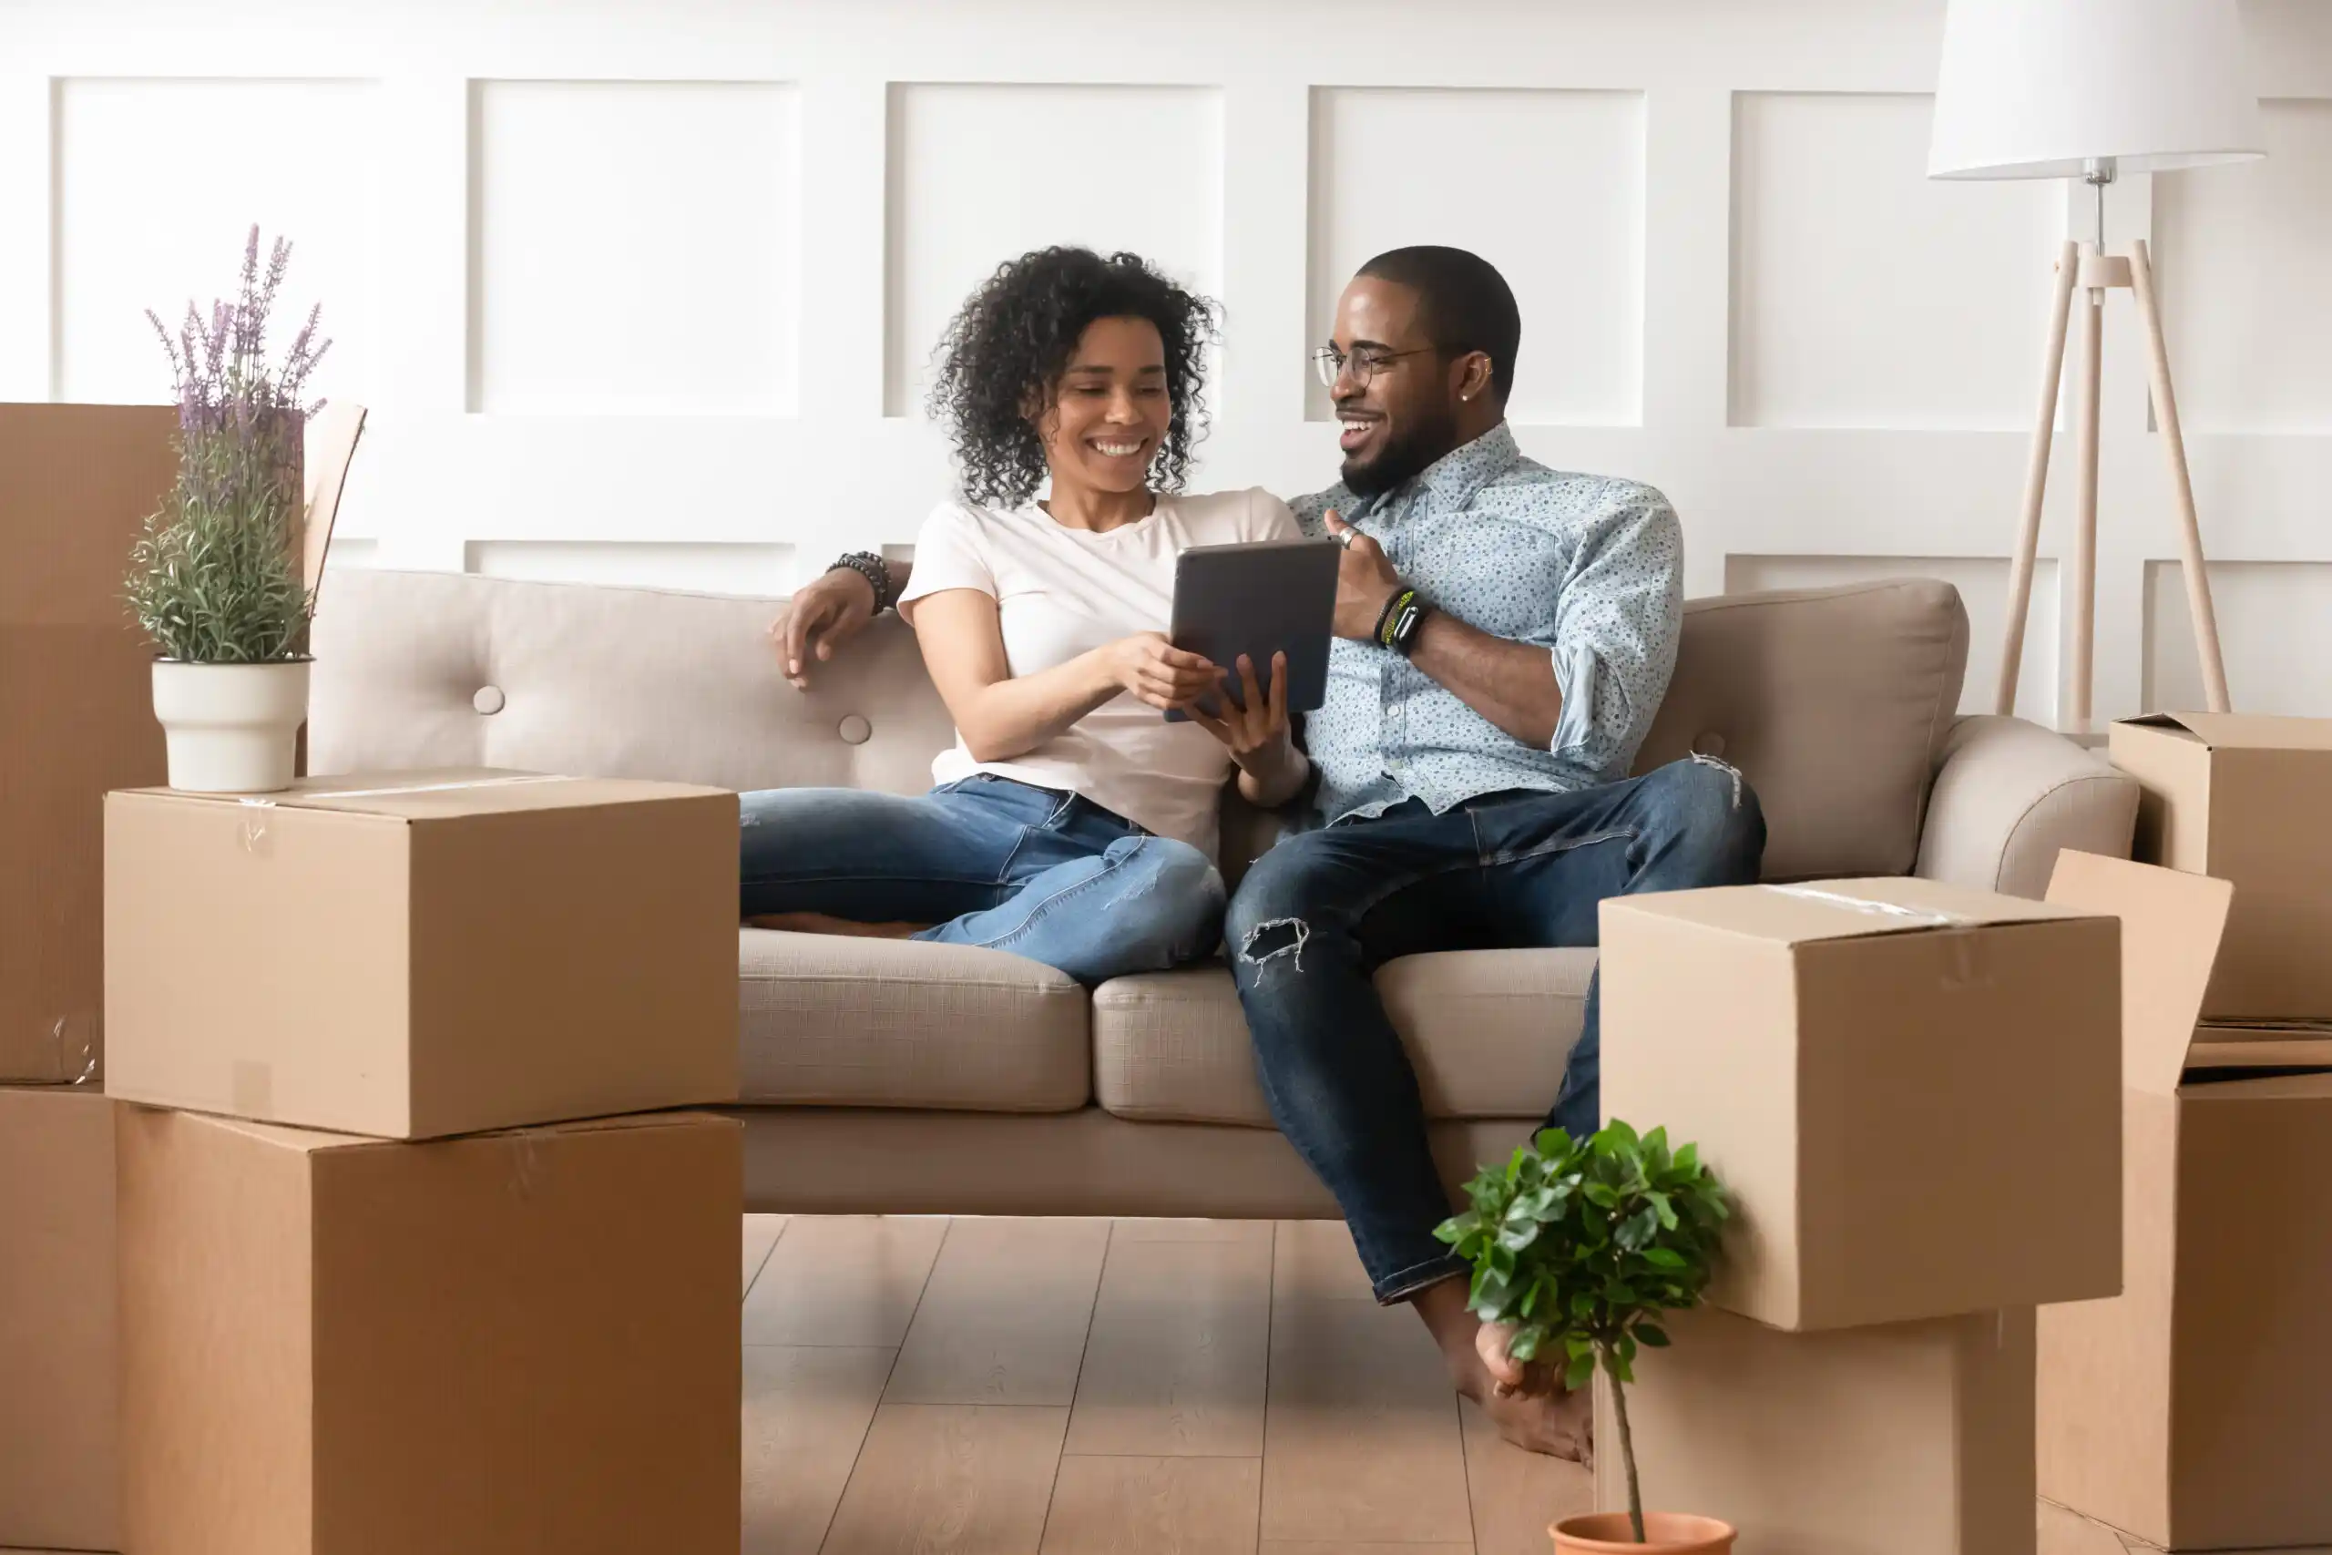
[[208, 319], [187, 303], [177, 338], [147, 312], [170, 354], [180, 464], [131, 548], [128, 597], [156, 648], [173, 788], [289, 788], [308, 718], [301, 431], [322, 401], [301, 394], [331, 343], [317, 340], [317, 305], [282, 364], [268, 364], [268, 312], [289, 261], [278, 238], [261, 270], [252, 226], [233, 301], [212, 303]]

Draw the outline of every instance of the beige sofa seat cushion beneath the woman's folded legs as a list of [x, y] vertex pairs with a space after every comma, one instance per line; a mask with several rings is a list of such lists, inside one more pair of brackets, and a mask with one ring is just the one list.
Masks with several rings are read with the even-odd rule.
[[739, 1098], [1070, 1112], [1091, 1098], [1084, 988], [968, 944], [737, 930]]

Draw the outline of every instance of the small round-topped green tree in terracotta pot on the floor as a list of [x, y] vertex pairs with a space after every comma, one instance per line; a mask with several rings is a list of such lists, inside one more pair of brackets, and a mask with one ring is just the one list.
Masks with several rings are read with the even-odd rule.
[[1700, 1303], [1726, 1222], [1726, 1194], [1695, 1147], [1667, 1147], [1667, 1131], [1637, 1135], [1621, 1121], [1595, 1138], [1541, 1131], [1504, 1168], [1467, 1184], [1471, 1208], [1434, 1236], [1474, 1266], [1469, 1306], [1511, 1324], [1506, 1352], [1558, 1368], [1565, 1387], [1611, 1378], [1628, 1511], [1565, 1518], [1555, 1550], [1663, 1550], [1726, 1555], [1733, 1527], [1714, 1518], [1644, 1513], [1628, 1434], [1628, 1385], [1639, 1348], [1660, 1350], [1656, 1317]]

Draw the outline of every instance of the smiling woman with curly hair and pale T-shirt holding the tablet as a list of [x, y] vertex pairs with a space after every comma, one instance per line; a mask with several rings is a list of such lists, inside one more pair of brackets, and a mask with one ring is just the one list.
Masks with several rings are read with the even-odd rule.
[[919, 800], [744, 795], [744, 916], [984, 944], [1082, 984], [1215, 949], [1224, 779], [1273, 807], [1308, 767], [1285, 662], [1259, 685], [1164, 634], [1187, 546], [1297, 536], [1266, 492], [1180, 494], [1213, 317], [1138, 256], [1087, 249], [1024, 254], [963, 305], [930, 396], [961, 492], [898, 601], [956, 744]]

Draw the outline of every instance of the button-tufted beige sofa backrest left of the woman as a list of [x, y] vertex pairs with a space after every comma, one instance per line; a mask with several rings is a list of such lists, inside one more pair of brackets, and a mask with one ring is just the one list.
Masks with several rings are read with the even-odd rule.
[[714, 788], [923, 793], [954, 737], [895, 615], [793, 690], [772, 599], [336, 571], [315, 615], [312, 772], [520, 767]]

